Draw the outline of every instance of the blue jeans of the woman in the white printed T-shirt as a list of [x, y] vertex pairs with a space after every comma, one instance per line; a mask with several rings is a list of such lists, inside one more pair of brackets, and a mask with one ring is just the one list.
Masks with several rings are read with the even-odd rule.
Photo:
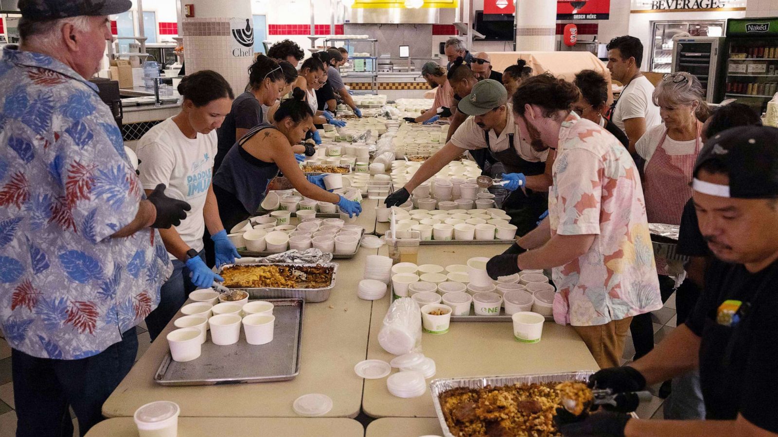
[[[203, 251], [201, 250], [198, 255], [202, 258]], [[190, 271], [184, 261], [173, 260], [173, 274], [159, 290], [159, 306], [145, 318], [151, 341], [154, 341], [156, 336], [165, 329], [170, 320], [173, 320], [173, 316], [187, 301], [189, 293], [197, 289], [195, 284], [192, 284], [189, 274]]]

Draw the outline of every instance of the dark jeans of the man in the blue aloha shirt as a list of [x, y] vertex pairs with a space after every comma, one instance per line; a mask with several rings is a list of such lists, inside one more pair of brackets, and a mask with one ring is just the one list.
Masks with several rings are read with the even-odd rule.
[[103, 420], [103, 403], [130, 371], [137, 354], [135, 327], [124, 332], [120, 342], [89, 358], [37, 358], [12, 349], [16, 437], [72, 436], [68, 406], [73, 407], [79, 432], [85, 435]]

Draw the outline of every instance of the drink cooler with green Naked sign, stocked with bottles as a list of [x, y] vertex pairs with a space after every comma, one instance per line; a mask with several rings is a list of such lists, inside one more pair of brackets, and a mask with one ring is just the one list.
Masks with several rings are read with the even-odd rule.
[[727, 20], [727, 69], [720, 95], [762, 114], [778, 93], [778, 17]]

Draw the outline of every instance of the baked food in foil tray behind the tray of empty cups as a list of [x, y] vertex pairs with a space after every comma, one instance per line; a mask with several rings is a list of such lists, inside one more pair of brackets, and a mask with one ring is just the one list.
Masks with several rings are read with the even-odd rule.
[[296, 265], [233, 265], [219, 273], [227, 288], [324, 288], [335, 267]]

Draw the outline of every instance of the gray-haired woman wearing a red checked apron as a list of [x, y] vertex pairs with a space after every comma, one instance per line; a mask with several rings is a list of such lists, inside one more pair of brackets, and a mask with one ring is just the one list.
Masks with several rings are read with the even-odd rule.
[[[649, 129], [635, 145], [646, 162], [643, 191], [648, 222], [680, 225], [684, 205], [692, 198], [689, 183], [703, 145], [700, 119], [707, 117], [708, 106], [699, 80], [687, 72], [664, 75], [653, 97], [664, 124]], [[656, 260], [664, 302], [675, 291], [675, 280], [668, 275], [667, 261], [660, 257]], [[630, 329], [637, 359], [654, 348], [650, 315], [636, 316]]]

